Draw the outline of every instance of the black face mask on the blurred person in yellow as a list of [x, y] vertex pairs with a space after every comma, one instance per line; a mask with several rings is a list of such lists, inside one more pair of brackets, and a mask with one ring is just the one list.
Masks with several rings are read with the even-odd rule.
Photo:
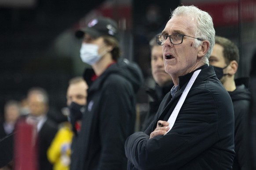
[[82, 119], [83, 113], [85, 110], [85, 106], [79, 105], [75, 102], [72, 102], [69, 106], [69, 118], [70, 118], [70, 123], [72, 125], [72, 131], [77, 134], [77, 128], [76, 128], [76, 123], [78, 120]]

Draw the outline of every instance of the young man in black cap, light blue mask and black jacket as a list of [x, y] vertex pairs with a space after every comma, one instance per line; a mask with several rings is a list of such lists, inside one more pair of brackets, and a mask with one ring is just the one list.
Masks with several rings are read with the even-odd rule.
[[135, 96], [143, 84], [137, 64], [120, 59], [117, 23], [95, 18], [76, 32], [83, 38], [87, 106], [74, 144], [71, 170], [126, 170], [125, 139], [134, 132]]

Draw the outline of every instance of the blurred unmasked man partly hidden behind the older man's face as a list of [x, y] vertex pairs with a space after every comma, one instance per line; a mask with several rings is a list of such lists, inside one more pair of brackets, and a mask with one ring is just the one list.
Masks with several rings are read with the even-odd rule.
[[[160, 34], [161, 33], [157, 35]], [[151, 73], [155, 81], [155, 87], [154, 89], [146, 90], [151, 101], [149, 102], [149, 110], [146, 114], [145, 120], [143, 121], [141, 131], [145, 131], [154, 120], [162, 99], [173, 87], [172, 77], [170, 74], [165, 72], [162, 46], [157, 45], [155, 36], [150, 40], [149, 45], [151, 49]]]

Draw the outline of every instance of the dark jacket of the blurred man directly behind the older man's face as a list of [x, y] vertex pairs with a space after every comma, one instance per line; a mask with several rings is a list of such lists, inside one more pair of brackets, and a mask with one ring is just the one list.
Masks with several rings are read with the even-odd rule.
[[150, 123], [154, 120], [154, 117], [157, 113], [157, 110], [159, 108], [159, 105], [164, 99], [165, 95], [170, 92], [172, 89], [173, 82], [170, 81], [168, 85], [165, 85], [164, 87], [161, 87], [159, 85], [155, 85], [155, 89], [147, 89], [146, 93], [150, 96], [152, 101], [149, 102], [149, 110], [146, 114], [145, 119], [143, 120], [143, 124], [141, 127], [141, 131], [145, 131], [146, 128], [150, 125]]

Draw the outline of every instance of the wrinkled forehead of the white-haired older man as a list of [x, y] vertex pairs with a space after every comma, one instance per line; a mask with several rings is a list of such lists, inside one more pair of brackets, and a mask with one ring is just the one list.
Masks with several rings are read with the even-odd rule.
[[185, 35], [193, 35], [195, 20], [191, 16], [181, 15], [172, 17], [163, 30], [163, 35], [172, 35], [175, 33], [181, 33]]

